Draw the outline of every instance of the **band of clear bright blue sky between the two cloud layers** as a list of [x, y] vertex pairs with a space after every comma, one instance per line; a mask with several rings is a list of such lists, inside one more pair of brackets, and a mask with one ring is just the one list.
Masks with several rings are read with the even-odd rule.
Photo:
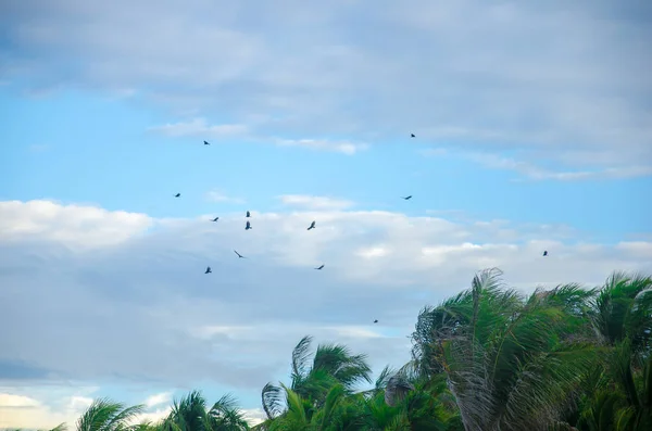
[[[415, 142], [409, 132], [374, 141], [355, 155], [279, 149], [237, 138], [204, 148], [201, 137], [148, 131], [171, 119], [133, 101], [78, 91], [26, 98], [10, 85], [0, 94], [2, 116], [10, 118], [3, 135], [11, 142], [3, 200], [52, 198], [156, 217], [189, 217], [251, 204], [268, 211], [279, 194], [314, 194], [414, 216], [428, 210], [461, 210], [484, 218], [568, 224], [610, 242], [649, 228], [644, 197], [651, 176], [516, 182], [522, 176], [511, 170], [424, 155], [424, 150], [454, 143], [421, 138]], [[204, 199], [226, 185], [229, 193], [247, 197], [251, 204], [216, 207]], [[183, 205], [170, 199], [177, 191], [183, 192]], [[406, 194], [415, 195], [410, 204], [398, 199]]]

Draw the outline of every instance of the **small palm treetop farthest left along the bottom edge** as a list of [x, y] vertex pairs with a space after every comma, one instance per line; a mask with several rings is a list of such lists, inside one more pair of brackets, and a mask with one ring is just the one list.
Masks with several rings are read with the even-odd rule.
[[[142, 413], [143, 406], [125, 407], [109, 398], [99, 398], [86, 409], [77, 420], [77, 431], [125, 431], [136, 415]], [[61, 427], [61, 426], [59, 426]], [[59, 428], [58, 427], [58, 428]]]

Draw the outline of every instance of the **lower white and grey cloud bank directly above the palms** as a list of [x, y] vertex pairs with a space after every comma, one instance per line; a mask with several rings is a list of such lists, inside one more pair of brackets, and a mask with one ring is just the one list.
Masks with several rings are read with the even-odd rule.
[[[317, 229], [306, 231], [313, 219]], [[0, 327], [15, 328], [0, 331], [0, 362], [22, 364], [0, 366], [0, 393], [12, 396], [0, 400], [34, 406], [4, 409], [8, 427], [74, 420], [101, 393], [68, 390], [54, 403], [55, 378], [156, 382], [161, 390], [143, 401], [152, 418], [167, 411], [165, 389], [204, 384], [255, 409], [304, 334], [366, 353], [376, 370], [400, 366], [418, 310], [489, 266], [530, 290], [592, 286], [614, 269], [652, 272], [652, 243], [640, 239], [609, 245], [564, 226], [327, 205], [254, 213], [251, 231], [240, 213], [220, 224], [171, 223], [45, 201], [2, 202], [0, 220]], [[147, 230], [152, 224], [159, 228]], [[116, 232], [120, 241], [108, 239]], [[319, 263], [325, 268], [314, 270]], [[206, 265], [213, 274], [203, 274]], [[40, 392], [25, 386], [30, 369]]]

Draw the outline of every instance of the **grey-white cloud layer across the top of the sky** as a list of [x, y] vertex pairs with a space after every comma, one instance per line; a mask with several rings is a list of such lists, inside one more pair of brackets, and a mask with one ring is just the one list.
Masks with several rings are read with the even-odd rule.
[[[21, 77], [41, 92], [130, 89], [193, 113], [168, 132], [223, 136], [247, 125], [258, 137], [344, 153], [415, 132], [409, 142], [528, 150], [524, 162], [542, 155], [554, 173], [616, 169], [605, 178], [639, 164], [643, 175], [652, 160], [644, 2], [1, 8], [11, 64], [2, 81]], [[333, 136], [346, 138], [296, 138]]]

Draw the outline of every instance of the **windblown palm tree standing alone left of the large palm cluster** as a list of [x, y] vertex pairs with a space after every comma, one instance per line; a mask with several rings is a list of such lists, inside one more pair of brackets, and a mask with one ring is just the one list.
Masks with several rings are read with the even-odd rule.
[[361, 381], [372, 382], [366, 356], [352, 355], [343, 345], [318, 345], [310, 365], [311, 342], [312, 337], [305, 335], [292, 351], [291, 392], [273, 383], [263, 388], [262, 404], [268, 419], [288, 411], [291, 407], [288, 400], [293, 401], [288, 394], [297, 394], [313, 408], [321, 408], [334, 386], [341, 384], [344, 393], [350, 394]]

